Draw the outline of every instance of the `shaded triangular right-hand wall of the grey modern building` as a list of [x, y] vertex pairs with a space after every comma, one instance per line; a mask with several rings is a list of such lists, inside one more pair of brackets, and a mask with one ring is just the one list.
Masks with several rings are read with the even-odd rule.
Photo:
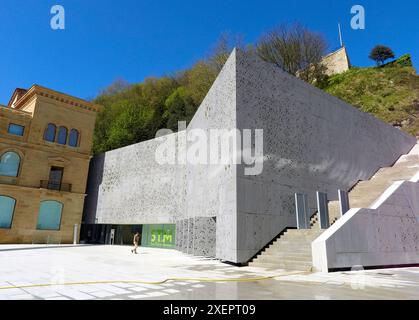
[[[237, 127], [264, 130], [261, 175], [237, 168], [237, 234], [246, 262], [285, 227], [295, 227], [294, 193], [337, 200], [391, 166], [416, 140], [375, 117], [282, 72], [257, 56], [237, 51]], [[252, 217], [251, 217], [252, 216]]]

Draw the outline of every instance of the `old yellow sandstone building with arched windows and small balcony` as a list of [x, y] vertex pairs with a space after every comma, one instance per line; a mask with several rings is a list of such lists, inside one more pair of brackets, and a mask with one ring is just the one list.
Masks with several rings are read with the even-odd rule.
[[78, 237], [98, 109], [39, 85], [0, 106], [0, 243]]

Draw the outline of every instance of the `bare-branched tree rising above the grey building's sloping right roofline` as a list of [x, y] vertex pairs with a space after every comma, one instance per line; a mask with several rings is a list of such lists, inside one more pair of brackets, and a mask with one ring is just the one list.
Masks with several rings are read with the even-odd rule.
[[302, 25], [282, 24], [262, 35], [256, 45], [259, 56], [307, 82], [319, 77], [327, 43], [321, 34]]

